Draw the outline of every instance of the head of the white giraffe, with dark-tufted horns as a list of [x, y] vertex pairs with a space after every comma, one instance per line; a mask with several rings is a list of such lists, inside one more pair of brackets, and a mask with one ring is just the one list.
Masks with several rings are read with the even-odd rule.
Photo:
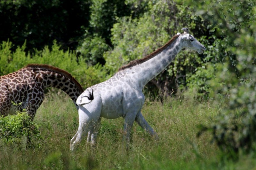
[[199, 43], [193, 35], [189, 34], [188, 28], [182, 28], [182, 30], [184, 31], [183, 34], [177, 33], [177, 35], [180, 35], [179, 38], [180, 42], [182, 42], [182, 48], [194, 50], [202, 54], [205, 47]]

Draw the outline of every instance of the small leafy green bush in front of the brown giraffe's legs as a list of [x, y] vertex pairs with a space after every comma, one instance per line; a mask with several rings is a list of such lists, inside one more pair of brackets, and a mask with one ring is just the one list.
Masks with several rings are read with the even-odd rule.
[[27, 144], [34, 144], [41, 138], [39, 125], [31, 120], [25, 109], [15, 115], [0, 118], [0, 139], [4, 143], [20, 144], [26, 148]]

